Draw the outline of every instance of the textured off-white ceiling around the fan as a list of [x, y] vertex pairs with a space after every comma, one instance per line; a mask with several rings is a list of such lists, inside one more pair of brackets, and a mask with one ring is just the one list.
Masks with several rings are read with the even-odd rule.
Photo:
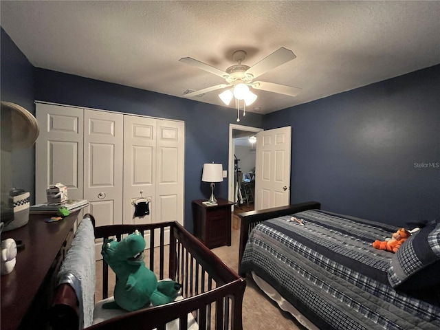
[[[177, 97], [224, 83], [245, 50], [252, 66], [279, 47], [297, 58], [259, 80], [269, 113], [440, 63], [440, 1], [0, 1], [1, 26], [35, 67]], [[199, 102], [221, 105], [219, 91]], [[260, 109], [254, 109], [260, 108]]]

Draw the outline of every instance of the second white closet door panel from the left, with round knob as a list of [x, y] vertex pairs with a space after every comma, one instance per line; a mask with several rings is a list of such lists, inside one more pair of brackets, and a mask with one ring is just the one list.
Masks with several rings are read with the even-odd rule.
[[84, 112], [84, 198], [96, 225], [122, 223], [124, 116]]

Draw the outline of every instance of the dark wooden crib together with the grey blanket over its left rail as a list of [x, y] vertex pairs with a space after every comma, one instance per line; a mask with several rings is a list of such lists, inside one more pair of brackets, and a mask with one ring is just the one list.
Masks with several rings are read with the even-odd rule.
[[[86, 276], [78, 268], [84, 268], [89, 273], [89, 269], [95, 266], [95, 239], [115, 237], [120, 241], [125, 234], [135, 230], [144, 235], [147, 241], [148, 248], [144, 250], [146, 267], [155, 272], [158, 280], [166, 281], [169, 278], [180, 283], [181, 295], [173, 303], [132, 312], [115, 311], [111, 316], [102, 314], [102, 301], [92, 301], [92, 310], [89, 308], [87, 311], [87, 303], [94, 300], [94, 288], [87, 289], [84, 285], [88, 281], [83, 280], [78, 289], [78, 283], [69, 282], [69, 278], [73, 274], [76, 278], [84, 279]], [[91, 239], [84, 243], [90, 233]], [[82, 255], [85, 247], [90, 245], [93, 250], [91, 261], [81, 256], [79, 265], [61, 266], [59, 285], [54, 290], [50, 309], [52, 329], [242, 329], [241, 308], [245, 280], [179, 223], [107, 225], [94, 228], [93, 216], [86, 214], [78, 225], [72, 248], [67, 252], [63, 263], [75, 263], [75, 254], [79, 251]], [[72, 258], [69, 258], [70, 254], [73, 255]], [[80, 274], [76, 274], [77, 272]], [[102, 298], [107, 301], [112, 299], [109, 292], [111, 293], [113, 287], [108, 280], [111, 273], [111, 268], [103, 262]], [[65, 278], [67, 281], [64, 281]], [[80, 295], [78, 291], [81, 292]], [[94, 314], [94, 320], [90, 320], [89, 314]]]

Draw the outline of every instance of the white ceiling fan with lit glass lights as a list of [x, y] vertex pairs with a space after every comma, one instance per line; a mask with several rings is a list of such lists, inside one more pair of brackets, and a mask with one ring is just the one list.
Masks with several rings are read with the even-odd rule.
[[[185, 94], [185, 97], [191, 98], [193, 96], [199, 96], [200, 94], [228, 87], [230, 88], [219, 94], [219, 97], [226, 105], [230, 104], [230, 101], [233, 97], [235, 97], [236, 100], [243, 100], [245, 105], [252, 104], [256, 100], [257, 96], [250, 91], [249, 87], [252, 87], [253, 89], [261, 89], [263, 91], [272, 91], [274, 93], [288, 96], [298, 95], [298, 92], [300, 91], [300, 88], [298, 87], [268, 83], [266, 81], [254, 81], [254, 78], [257, 78], [258, 76], [265, 74], [265, 72], [268, 72], [296, 58], [296, 55], [294, 52], [292, 52], [292, 50], [287, 50], [287, 48], [281, 47], [252, 67], [241, 64], [243, 61], [245, 61], [246, 55], [246, 52], [243, 50], [237, 50], [234, 52], [232, 58], [238, 64], [228, 67], [225, 72], [221, 71], [221, 69], [217, 69], [217, 67], [212, 67], [211, 65], [197, 61], [194, 58], [180, 58], [179, 61], [182, 63], [198, 67], [199, 69], [220, 76], [226, 80], [225, 84], [214, 85], [204, 89], [199, 89], [198, 91], [191, 91], [190, 93]], [[239, 121], [239, 119], [237, 119], [237, 121]]]

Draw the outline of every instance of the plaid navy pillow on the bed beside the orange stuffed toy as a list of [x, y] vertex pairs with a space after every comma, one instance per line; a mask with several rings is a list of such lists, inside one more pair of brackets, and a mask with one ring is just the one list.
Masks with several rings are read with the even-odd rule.
[[388, 269], [391, 286], [417, 291], [440, 285], [440, 223], [412, 234], [394, 254]]

